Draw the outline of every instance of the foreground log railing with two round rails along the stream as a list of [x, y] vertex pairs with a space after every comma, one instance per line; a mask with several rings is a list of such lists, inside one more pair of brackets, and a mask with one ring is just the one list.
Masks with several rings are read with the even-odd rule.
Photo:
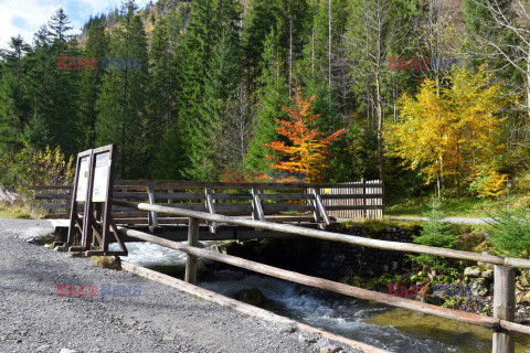
[[[264, 222], [257, 220], [243, 220], [237, 217], [224, 216], [219, 214], [211, 214], [205, 212], [198, 212], [192, 210], [184, 210], [178, 207], [168, 207], [161, 205], [152, 205], [147, 203], [134, 203], [129, 201], [114, 201], [115, 204], [142, 210], [147, 212], [158, 212], [165, 214], [172, 214], [176, 216], [189, 218], [188, 245], [171, 242], [157, 237], [155, 235], [120, 227], [119, 231], [130, 237], [138, 238], [145, 242], [151, 242], [172, 249], [181, 250], [188, 254], [186, 280], [194, 284], [197, 260], [199, 257], [208, 258], [224, 264], [237, 266], [244, 269], [253, 270], [263, 275], [273, 276], [276, 278], [294, 281], [301, 285], [312, 286], [333, 292], [364, 299], [372, 300], [380, 303], [410, 309], [423, 313], [428, 313], [446, 319], [452, 319], [460, 322], [466, 322], [475, 325], [489, 328], [494, 331], [492, 334], [492, 352], [515, 351], [513, 333], [519, 332], [530, 334], [530, 327], [515, 323], [515, 268], [530, 268], [530, 260], [521, 258], [500, 257], [488, 254], [478, 254], [462, 252], [447, 248], [437, 248], [417, 244], [396, 243], [389, 240], [370, 239], [359, 236], [351, 236], [338, 233], [331, 233], [320, 229], [310, 229], [306, 227], [278, 224], [272, 222]], [[258, 229], [266, 229], [273, 232], [283, 232], [300, 236], [307, 236], [318, 239], [340, 242], [344, 244], [352, 244], [358, 246], [367, 246], [386, 250], [409, 252], [415, 254], [427, 254], [443, 257], [457, 258], [463, 260], [481, 261], [495, 266], [494, 276], [494, 317], [485, 317], [470, 312], [463, 312], [458, 310], [441, 308], [424, 302], [414, 301], [411, 299], [394, 297], [386, 293], [371, 291], [362, 288], [348, 286], [340, 282], [335, 282], [321, 278], [310, 277], [298, 272], [275, 268], [272, 266], [250, 261], [234, 256], [219, 254], [211, 250], [198, 248], [199, 239], [199, 221], [215, 222], [218, 224], [231, 224], [247, 227], [255, 227]]]

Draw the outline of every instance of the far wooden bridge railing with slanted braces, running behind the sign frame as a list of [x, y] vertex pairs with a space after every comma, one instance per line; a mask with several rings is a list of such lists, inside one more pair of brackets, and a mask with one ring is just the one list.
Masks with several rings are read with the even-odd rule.
[[[248, 216], [262, 221], [272, 215], [274, 221], [292, 222], [293, 215], [296, 214], [297, 221], [329, 224], [330, 217], [335, 216], [382, 216], [382, 194], [375, 192], [377, 188], [382, 190], [382, 183], [117, 181], [114, 186], [114, 199]], [[35, 191], [36, 200], [43, 201], [41, 206], [49, 211], [50, 218], [70, 216], [72, 185], [35, 185], [30, 190]], [[283, 217], [275, 216], [280, 213], [284, 214]], [[187, 222], [184, 218], [121, 206], [113, 206], [113, 215], [118, 224], [131, 226]]]

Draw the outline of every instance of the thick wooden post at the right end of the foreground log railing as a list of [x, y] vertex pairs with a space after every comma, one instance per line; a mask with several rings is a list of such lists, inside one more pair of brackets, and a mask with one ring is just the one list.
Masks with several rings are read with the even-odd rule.
[[[513, 268], [495, 265], [494, 318], [513, 321], [516, 314], [516, 275]], [[513, 334], [499, 329], [494, 332], [492, 353], [513, 353]]]

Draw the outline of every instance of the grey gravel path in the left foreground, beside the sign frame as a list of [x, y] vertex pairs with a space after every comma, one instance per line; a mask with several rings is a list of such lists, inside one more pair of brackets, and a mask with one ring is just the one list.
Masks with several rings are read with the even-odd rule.
[[[332, 345], [316, 336], [300, 342], [300, 332], [279, 324], [26, 242], [51, 232], [47, 221], [0, 218], [0, 352], [290, 353]], [[57, 284], [99, 289], [94, 298], [57, 297]], [[141, 295], [102, 297], [106, 284], [139, 286]]]

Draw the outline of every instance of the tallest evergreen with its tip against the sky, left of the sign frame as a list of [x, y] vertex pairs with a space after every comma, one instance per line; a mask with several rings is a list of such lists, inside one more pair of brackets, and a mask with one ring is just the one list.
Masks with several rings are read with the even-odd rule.
[[62, 9], [35, 34], [35, 49], [28, 55], [32, 119], [24, 128], [26, 140], [40, 149], [61, 146], [66, 154], [80, 149], [78, 76], [76, 69], [57, 69], [59, 55], [75, 57], [70, 41], [70, 20]]

